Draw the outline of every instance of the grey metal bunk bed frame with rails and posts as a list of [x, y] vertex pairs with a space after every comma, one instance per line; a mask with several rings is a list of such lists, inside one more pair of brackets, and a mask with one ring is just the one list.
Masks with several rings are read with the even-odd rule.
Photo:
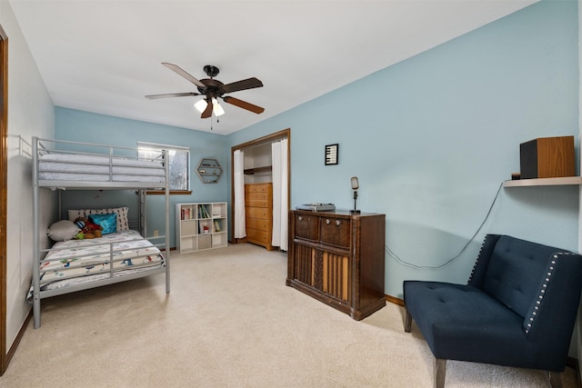
[[[53, 181], [53, 180], [40, 180], [38, 175], [38, 167], [39, 167], [39, 160], [38, 155], [39, 149], [42, 143], [51, 143], [51, 144], [76, 144], [76, 145], [83, 145], [83, 146], [90, 146], [90, 147], [102, 147], [108, 149], [109, 155], [109, 181], [108, 182], [90, 182], [90, 181]], [[33, 137], [33, 315], [34, 315], [34, 323], [35, 329], [40, 327], [40, 301], [43, 298], [47, 298], [50, 296], [65, 294], [65, 293], [74, 293], [75, 291], [87, 290], [90, 288], [99, 287], [106, 284], [115, 284], [121, 283], [128, 280], [133, 280], [141, 277], [150, 276], [153, 274], [166, 274], [166, 293], [170, 293], [170, 188], [169, 188], [169, 159], [167, 158], [168, 152], [164, 150], [164, 160], [168, 163], [164, 164], [165, 172], [166, 172], [166, 179], [164, 183], [144, 183], [144, 182], [114, 182], [113, 181], [113, 165], [111, 163], [111, 159], [114, 156], [113, 152], [115, 150], [132, 150], [135, 151], [135, 148], [125, 148], [125, 147], [117, 147], [113, 145], [104, 145], [104, 144], [89, 144], [89, 143], [79, 143], [79, 142], [68, 142], [62, 140], [51, 140], [51, 139], [40, 139], [38, 137]], [[48, 151], [60, 151], [60, 150], [48, 150]], [[66, 152], [67, 154], [71, 154], [70, 152]], [[105, 154], [104, 154], [105, 155]], [[40, 220], [39, 220], [39, 190], [41, 188], [48, 188], [51, 190], [60, 190], [60, 189], [74, 189], [74, 190], [137, 190], [140, 192], [140, 210], [139, 210], [139, 224], [145, 224], [145, 212], [142, 211], [142, 208], [145, 207], [145, 200], [146, 194], [144, 193], [145, 190], [153, 190], [159, 189], [161, 186], [164, 187], [165, 190], [165, 214], [166, 214], [166, 224], [165, 224], [165, 234], [158, 235], [153, 237], [147, 237], [144, 235], [145, 239], [164, 239], [163, 244], [154, 244], [156, 247], [163, 247], [164, 249], [160, 249], [160, 254], [164, 255], [164, 262], [165, 266], [162, 268], [153, 268], [147, 269], [143, 272], [137, 272], [135, 274], [125, 274], [123, 276], [114, 276], [113, 268], [109, 271], [109, 277], [105, 279], [94, 280], [86, 284], [76, 284], [67, 286], [61, 289], [56, 290], [49, 290], [49, 291], [40, 291], [40, 261], [41, 261], [41, 254], [48, 252], [50, 250], [41, 250], [40, 249]], [[60, 210], [60, 209], [59, 209]], [[60, 214], [59, 214], [60, 217]], [[144, 228], [146, 230], [146, 228]], [[140, 231], [142, 232], [142, 231]], [[142, 232], [143, 233], [143, 232]]]

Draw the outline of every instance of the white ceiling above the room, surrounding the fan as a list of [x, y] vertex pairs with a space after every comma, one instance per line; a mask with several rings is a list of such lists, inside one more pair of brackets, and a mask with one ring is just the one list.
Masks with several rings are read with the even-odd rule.
[[201, 97], [162, 62], [197, 79], [216, 65], [230, 94], [212, 131], [231, 134], [486, 25], [537, 0], [10, 0], [53, 103], [97, 114], [211, 130]]

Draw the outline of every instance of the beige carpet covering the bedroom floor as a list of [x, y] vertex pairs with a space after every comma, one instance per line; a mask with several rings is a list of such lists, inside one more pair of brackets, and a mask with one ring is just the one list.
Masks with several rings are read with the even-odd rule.
[[[2, 387], [431, 387], [403, 309], [361, 322], [285, 285], [286, 254], [251, 244], [173, 254], [164, 275], [43, 301]], [[24, 297], [24, 296], [23, 296]], [[576, 386], [567, 368], [564, 386]], [[547, 387], [542, 372], [449, 362], [447, 387]]]

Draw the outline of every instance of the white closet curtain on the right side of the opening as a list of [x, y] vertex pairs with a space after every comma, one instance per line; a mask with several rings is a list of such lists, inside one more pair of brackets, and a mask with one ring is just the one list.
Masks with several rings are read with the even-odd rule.
[[288, 242], [288, 198], [287, 198], [287, 139], [271, 144], [273, 159], [273, 238], [271, 245], [287, 251]]

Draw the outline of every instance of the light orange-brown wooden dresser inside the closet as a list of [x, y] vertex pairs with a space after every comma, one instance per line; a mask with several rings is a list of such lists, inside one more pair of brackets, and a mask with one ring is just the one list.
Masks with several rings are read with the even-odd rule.
[[272, 251], [273, 184], [245, 184], [246, 242]]

